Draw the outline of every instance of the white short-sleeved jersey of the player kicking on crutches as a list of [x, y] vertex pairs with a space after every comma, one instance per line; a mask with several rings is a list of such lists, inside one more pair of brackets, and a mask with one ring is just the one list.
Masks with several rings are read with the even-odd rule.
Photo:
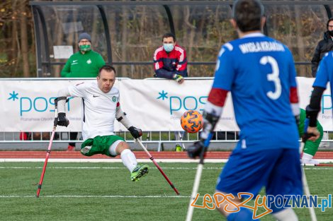
[[114, 135], [116, 108], [119, 106], [119, 90], [111, 88], [108, 93], [101, 91], [96, 82], [69, 86], [72, 97], [82, 97], [82, 137], [84, 140], [95, 136]]

